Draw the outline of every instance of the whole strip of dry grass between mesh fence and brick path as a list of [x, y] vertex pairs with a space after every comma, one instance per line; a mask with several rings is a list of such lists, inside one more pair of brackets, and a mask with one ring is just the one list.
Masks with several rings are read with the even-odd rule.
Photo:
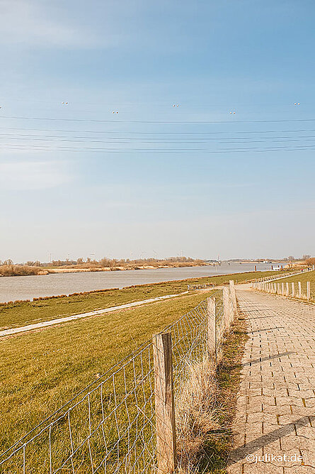
[[217, 365], [211, 360], [190, 365], [176, 399], [178, 474], [227, 473], [246, 338], [246, 321], [240, 316], [225, 335]]

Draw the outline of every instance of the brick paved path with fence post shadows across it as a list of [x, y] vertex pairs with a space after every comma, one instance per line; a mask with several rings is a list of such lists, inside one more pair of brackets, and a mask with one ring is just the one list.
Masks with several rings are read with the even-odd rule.
[[315, 474], [315, 306], [237, 296], [249, 339], [229, 473]]

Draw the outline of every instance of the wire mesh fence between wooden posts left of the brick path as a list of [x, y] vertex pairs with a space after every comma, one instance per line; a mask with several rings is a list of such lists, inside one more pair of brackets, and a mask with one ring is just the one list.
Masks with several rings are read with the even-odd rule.
[[[219, 347], [226, 326], [222, 291], [212, 297]], [[206, 300], [164, 329], [173, 340], [175, 397], [189, 365], [209, 353], [208, 316]], [[155, 417], [153, 345], [147, 341], [2, 453], [0, 472], [154, 472]]]

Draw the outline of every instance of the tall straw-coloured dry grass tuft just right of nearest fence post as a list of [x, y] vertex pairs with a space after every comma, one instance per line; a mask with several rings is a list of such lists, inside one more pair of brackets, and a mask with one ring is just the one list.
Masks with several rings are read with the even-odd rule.
[[214, 413], [216, 367], [205, 356], [197, 363], [187, 363], [188, 378], [176, 398], [176, 429], [179, 472], [195, 470], [200, 448], [207, 434], [217, 429]]

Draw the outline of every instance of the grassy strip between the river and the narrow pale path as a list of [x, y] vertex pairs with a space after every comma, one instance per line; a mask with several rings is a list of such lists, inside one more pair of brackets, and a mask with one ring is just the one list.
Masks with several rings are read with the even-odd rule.
[[219, 275], [175, 282], [161, 282], [154, 285], [128, 287], [122, 290], [108, 290], [70, 297], [42, 299], [35, 302], [8, 304], [0, 306], [0, 330], [48, 321], [60, 316], [88, 312], [93, 309], [103, 309], [151, 297], [159, 297], [164, 294], [181, 293], [187, 290], [188, 283], [212, 282], [220, 285], [229, 280], [241, 282], [246, 279], [268, 275], [274, 275], [274, 272], [235, 273], [229, 276]]

